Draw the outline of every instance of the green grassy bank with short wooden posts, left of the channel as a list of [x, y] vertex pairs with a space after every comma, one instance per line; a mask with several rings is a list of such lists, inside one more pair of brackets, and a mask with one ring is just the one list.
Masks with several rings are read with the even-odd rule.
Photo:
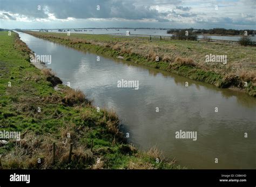
[[32, 65], [30, 49], [16, 33], [0, 32], [0, 46], [0, 130], [21, 131], [21, 141], [0, 143], [0, 168], [180, 168], [164, 161], [156, 148], [138, 151], [119, 131], [114, 112], [97, 112], [81, 91], [61, 85], [53, 72]]

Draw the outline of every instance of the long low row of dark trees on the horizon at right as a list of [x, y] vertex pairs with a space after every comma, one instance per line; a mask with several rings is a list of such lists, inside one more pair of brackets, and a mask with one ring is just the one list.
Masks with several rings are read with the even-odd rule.
[[218, 35], [245, 35], [245, 31], [247, 31], [247, 35], [256, 34], [256, 30], [234, 30], [234, 29], [224, 29], [224, 28], [214, 28], [214, 29], [170, 29], [167, 30], [168, 34], [179, 33], [180, 31], [190, 31], [193, 34], [218, 34]]

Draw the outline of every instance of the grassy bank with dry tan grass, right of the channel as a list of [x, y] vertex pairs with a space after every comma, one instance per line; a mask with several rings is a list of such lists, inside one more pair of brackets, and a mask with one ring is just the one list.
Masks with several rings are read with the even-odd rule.
[[[204, 41], [153, 40], [144, 37], [45, 33], [33, 36], [90, 50], [107, 56], [122, 56], [134, 63], [176, 73], [221, 88], [235, 87], [256, 96], [256, 48]], [[226, 55], [227, 64], [205, 63], [206, 55]], [[159, 61], [156, 61], [159, 57]], [[247, 86], [245, 86], [247, 82]]]

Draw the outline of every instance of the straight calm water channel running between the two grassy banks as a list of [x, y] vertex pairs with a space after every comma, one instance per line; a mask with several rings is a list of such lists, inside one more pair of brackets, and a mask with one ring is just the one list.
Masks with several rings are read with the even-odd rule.
[[[115, 110], [122, 131], [138, 148], [157, 146], [165, 158], [175, 157], [187, 168], [256, 168], [255, 98], [112, 58], [99, 56], [97, 61], [97, 54], [29, 34], [19, 36], [36, 54], [51, 55], [48, 67], [64, 84], [81, 89], [95, 106]], [[138, 80], [139, 89], [117, 87], [122, 79]], [[197, 140], [176, 138], [180, 130], [196, 131]]]

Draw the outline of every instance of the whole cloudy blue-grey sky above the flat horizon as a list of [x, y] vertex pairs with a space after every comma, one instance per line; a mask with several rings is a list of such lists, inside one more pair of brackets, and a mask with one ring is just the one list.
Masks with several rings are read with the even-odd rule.
[[[99, 10], [97, 10], [99, 9]], [[256, 30], [256, 0], [0, 0], [0, 28]]]

